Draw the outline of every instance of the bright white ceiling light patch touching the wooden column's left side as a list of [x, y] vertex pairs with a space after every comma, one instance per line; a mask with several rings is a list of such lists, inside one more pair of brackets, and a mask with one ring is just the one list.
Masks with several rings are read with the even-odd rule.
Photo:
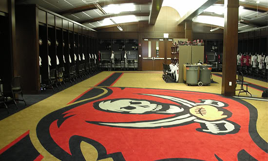
[[220, 17], [196, 16], [194, 19], [192, 19], [192, 21], [197, 22], [197, 23], [206, 23], [206, 24], [212, 24], [215, 26], [224, 27], [224, 18], [220, 18]]

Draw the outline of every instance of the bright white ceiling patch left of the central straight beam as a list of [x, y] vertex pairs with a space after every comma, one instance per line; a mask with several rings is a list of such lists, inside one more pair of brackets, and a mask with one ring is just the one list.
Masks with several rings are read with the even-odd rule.
[[136, 9], [134, 4], [110, 4], [103, 7], [103, 10], [109, 14], [119, 14], [120, 12], [131, 12]]

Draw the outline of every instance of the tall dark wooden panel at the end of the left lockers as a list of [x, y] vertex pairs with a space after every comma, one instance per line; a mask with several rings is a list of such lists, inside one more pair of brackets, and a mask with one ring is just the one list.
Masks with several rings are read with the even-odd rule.
[[26, 93], [38, 93], [40, 77], [38, 7], [36, 5], [16, 6], [16, 33], [18, 52], [15, 55], [18, 74], [21, 76], [21, 86]]

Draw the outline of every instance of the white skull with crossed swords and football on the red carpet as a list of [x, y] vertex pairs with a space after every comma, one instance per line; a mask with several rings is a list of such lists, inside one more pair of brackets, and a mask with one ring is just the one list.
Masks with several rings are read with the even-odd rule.
[[239, 127], [235, 128], [234, 122], [226, 120], [231, 114], [228, 110], [222, 108], [228, 105], [221, 101], [201, 100], [200, 102], [192, 102], [172, 96], [142, 95], [170, 100], [174, 104], [149, 100], [114, 99], [96, 102], [94, 107], [105, 112], [122, 114], [163, 114], [172, 116], [152, 121], [88, 122], [122, 128], [161, 128], [198, 122], [201, 125], [201, 128], [197, 129], [198, 131], [218, 135], [235, 133], [239, 130]]

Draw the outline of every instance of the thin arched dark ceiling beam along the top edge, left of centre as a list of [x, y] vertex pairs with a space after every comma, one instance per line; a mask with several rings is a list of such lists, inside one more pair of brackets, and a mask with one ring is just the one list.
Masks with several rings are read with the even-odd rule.
[[[109, 1], [105, 1], [105, 2], [100, 2], [98, 4], [101, 7], [104, 7], [104, 6], [109, 5], [109, 4], [122, 4], [122, 3], [150, 4], [150, 3], [152, 3], [152, 0], [117, 0], [117, 1], [109, 0]], [[59, 12], [58, 14], [60, 14], [60, 15], [75, 14], [75, 13], [88, 11], [88, 10], [92, 10], [92, 9], [96, 9], [96, 6], [94, 4], [88, 4], [88, 5], [84, 5], [81, 7], [65, 10], [65, 11]]]

